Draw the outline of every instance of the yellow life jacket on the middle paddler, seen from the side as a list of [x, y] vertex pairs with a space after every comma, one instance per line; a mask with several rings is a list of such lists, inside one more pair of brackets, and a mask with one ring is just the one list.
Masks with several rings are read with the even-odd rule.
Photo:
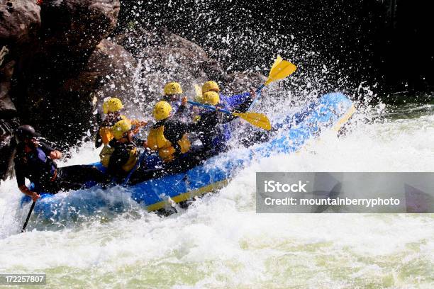
[[[182, 136], [181, 140], [178, 141], [178, 145], [181, 148], [182, 154], [189, 151], [191, 143], [187, 134]], [[164, 125], [150, 129], [148, 134], [148, 147], [152, 150], [158, 151], [158, 155], [164, 162], [170, 162], [174, 159], [176, 149], [174, 149], [172, 142], [169, 142], [169, 140], [166, 139]]]

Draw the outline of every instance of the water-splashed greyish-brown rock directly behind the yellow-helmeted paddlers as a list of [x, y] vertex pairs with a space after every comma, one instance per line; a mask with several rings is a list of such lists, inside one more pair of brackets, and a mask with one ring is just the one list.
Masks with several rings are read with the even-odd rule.
[[165, 29], [142, 30], [116, 37], [116, 41], [140, 60], [138, 102], [142, 111], [162, 96], [163, 86], [179, 81], [188, 94], [194, 84], [206, 81], [201, 65], [208, 62], [206, 52], [198, 45]]

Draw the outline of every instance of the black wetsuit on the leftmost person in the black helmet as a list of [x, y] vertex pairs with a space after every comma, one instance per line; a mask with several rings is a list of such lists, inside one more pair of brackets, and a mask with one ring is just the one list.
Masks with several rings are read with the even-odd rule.
[[57, 193], [62, 190], [77, 190], [84, 187], [87, 181], [105, 182], [105, 176], [94, 166], [78, 165], [57, 168], [48, 156], [54, 151], [44, 142], [37, 146], [30, 144], [30, 152], [25, 152], [26, 144], [19, 143], [14, 158], [16, 182], [25, 185], [29, 179], [34, 185], [33, 191]]

